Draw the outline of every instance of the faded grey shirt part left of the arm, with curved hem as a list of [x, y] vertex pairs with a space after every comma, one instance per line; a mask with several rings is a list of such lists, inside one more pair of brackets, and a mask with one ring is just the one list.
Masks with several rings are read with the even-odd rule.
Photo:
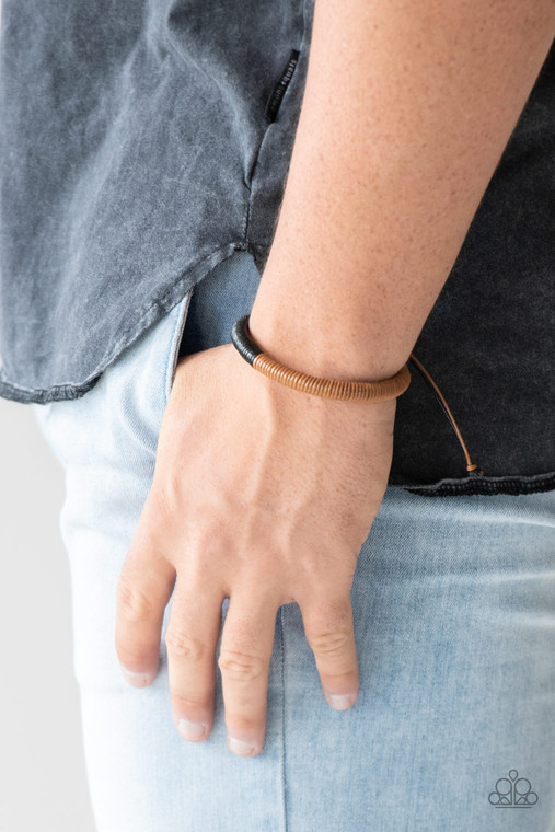
[[[0, 394], [81, 395], [273, 234], [305, 73], [299, 0], [3, 0]], [[278, 118], [265, 106], [301, 50]]]

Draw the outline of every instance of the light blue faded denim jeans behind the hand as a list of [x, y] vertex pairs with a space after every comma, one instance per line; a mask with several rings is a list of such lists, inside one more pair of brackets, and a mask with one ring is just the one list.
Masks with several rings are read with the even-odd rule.
[[60, 527], [99, 832], [555, 832], [553, 490], [389, 487], [351, 590], [358, 700], [326, 703], [300, 610], [285, 604], [255, 758], [227, 747], [219, 669], [201, 743], [174, 727], [163, 639], [154, 682], [125, 682], [116, 583], [182, 335], [229, 343], [258, 273], [238, 253], [205, 280], [190, 328], [196, 287], [83, 397], [32, 405], [67, 477]]

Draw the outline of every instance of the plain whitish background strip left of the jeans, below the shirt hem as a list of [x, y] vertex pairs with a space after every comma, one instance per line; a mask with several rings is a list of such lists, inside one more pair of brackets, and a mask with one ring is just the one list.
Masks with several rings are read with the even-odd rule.
[[0, 830], [94, 832], [73, 675], [62, 470], [0, 398]]

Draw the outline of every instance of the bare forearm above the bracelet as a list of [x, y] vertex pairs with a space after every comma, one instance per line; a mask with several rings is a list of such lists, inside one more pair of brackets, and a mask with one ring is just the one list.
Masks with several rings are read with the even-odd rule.
[[251, 313], [262, 349], [328, 378], [398, 370], [554, 34], [552, 0], [315, 0], [289, 174]]

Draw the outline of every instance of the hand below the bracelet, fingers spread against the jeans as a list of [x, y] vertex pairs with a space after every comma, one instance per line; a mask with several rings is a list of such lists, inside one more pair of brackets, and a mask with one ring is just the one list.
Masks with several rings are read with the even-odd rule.
[[281, 604], [300, 606], [328, 703], [356, 701], [350, 589], [388, 484], [395, 405], [292, 390], [233, 344], [178, 361], [118, 581], [116, 650], [138, 674], [128, 681], [149, 684], [174, 592], [165, 644], [175, 727], [186, 739], [211, 730], [224, 598], [218, 667], [232, 751], [264, 747]]

